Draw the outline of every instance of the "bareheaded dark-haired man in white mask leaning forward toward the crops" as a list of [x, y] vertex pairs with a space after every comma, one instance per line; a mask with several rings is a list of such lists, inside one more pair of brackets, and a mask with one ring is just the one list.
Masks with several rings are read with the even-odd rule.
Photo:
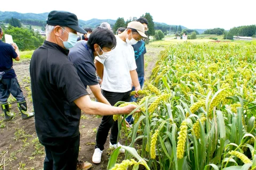
[[106, 60], [111, 55], [111, 50], [116, 47], [116, 37], [108, 29], [98, 27], [93, 30], [88, 41], [78, 41], [73, 48], [70, 48], [68, 60], [74, 63], [79, 78], [84, 87], [89, 86], [95, 98], [107, 105], [108, 100], [101, 94], [98, 79], [96, 77], [96, 68], [94, 57], [99, 56]]

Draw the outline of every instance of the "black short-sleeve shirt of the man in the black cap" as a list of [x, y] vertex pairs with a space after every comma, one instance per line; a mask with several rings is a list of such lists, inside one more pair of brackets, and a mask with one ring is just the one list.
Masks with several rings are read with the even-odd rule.
[[65, 145], [65, 138], [79, 134], [81, 110], [74, 100], [88, 95], [76, 67], [68, 58], [69, 50], [44, 41], [30, 62], [30, 77], [35, 125], [43, 145]]

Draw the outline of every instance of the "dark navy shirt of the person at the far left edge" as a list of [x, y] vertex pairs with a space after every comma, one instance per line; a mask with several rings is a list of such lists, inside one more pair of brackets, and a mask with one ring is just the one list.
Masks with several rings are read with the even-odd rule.
[[[12, 58], [17, 58], [17, 53], [13, 49], [12, 45], [4, 43], [0, 40], [0, 72], [11, 69], [12, 67]], [[5, 72], [3, 79], [12, 79], [15, 78], [16, 74], [13, 69], [8, 72]]]

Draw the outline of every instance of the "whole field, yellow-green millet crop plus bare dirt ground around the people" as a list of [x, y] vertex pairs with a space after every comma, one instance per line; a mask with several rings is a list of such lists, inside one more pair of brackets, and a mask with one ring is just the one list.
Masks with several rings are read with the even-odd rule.
[[[145, 88], [133, 103], [141, 112], [133, 114], [129, 129], [114, 116], [127, 152], [106, 150], [91, 169], [256, 169], [255, 42], [177, 41], [146, 46]], [[21, 52], [14, 62], [30, 111], [32, 53]], [[0, 119], [0, 169], [42, 169], [44, 148], [34, 119], [22, 121], [15, 99], [8, 101], [15, 116]], [[100, 118], [82, 114], [79, 160], [91, 162]]]

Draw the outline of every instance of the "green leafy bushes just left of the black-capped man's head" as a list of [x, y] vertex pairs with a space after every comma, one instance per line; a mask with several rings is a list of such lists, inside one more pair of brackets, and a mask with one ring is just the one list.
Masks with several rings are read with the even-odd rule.
[[[21, 51], [34, 50], [41, 46], [45, 40], [38, 32], [34, 32], [32, 29], [19, 28], [9, 25], [5, 28], [4, 24], [1, 24], [4, 34], [7, 33], [12, 36], [13, 42], [17, 44]], [[3, 41], [5, 41], [3, 36]]]

